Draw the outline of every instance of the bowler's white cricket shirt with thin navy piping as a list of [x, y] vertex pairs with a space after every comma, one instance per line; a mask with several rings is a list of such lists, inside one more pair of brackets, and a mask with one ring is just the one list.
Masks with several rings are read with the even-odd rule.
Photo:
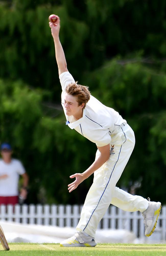
[[114, 109], [103, 105], [92, 95], [83, 110], [82, 118], [75, 121], [73, 116], [67, 116], [64, 107], [65, 89], [69, 83], [75, 82], [75, 80], [68, 71], [60, 74], [59, 78], [62, 86], [62, 106], [68, 126], [99, 147], [111, 143], [110, 135], [117, 133], [118, 129], [127, 123], [126, 120]]

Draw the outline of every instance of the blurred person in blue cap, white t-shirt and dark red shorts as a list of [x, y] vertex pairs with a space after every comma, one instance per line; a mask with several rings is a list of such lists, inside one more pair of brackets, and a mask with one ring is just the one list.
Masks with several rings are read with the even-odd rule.
[[28, 175], [22, 163], [12, 158], [12, 148], [8, 143], [3, 143], [0, 147], [0, 205], [18, 204], [18, 181], [19, 175], [23, 178], [23, 186], [20, 190], [20, 197], [26, 199]]

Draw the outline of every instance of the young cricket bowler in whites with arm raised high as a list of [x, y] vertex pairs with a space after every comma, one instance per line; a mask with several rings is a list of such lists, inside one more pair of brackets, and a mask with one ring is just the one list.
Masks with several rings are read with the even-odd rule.
[[66, 125], [97, 146], [96, 158], [91, 166], [82, 173], [70, 176], [75, 180], [68, 185], [69, 192], [94, 173], [93, 184], [86, 196], [76, 233], [60, 245], [96, 246], [95, 232], [110, 204], [125, 211], [140, 211], [144, 217], [145, 235], [150, 236], [156, 227], [161, 203], [133, 196], [116, 187], [135, 145], [134, 132], [118, 112], [94, 98], [88, 87], [77, 84], [68, 72], [59, 39], [60, 18], [56, 17], [56, 23], [49, 22], [49, 26], [54, 39]]

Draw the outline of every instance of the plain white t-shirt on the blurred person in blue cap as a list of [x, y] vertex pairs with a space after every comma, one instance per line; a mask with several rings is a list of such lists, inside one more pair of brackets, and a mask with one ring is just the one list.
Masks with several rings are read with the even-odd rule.
[[0, 179], [0, 196], [17, 196], [19, 175], [24, 173], [25, 169], [19, 160], [12, 159], [9, 164], [6, 164], [3, 159], [0, 159], [0, 176], [8, 175], [7, 178]]

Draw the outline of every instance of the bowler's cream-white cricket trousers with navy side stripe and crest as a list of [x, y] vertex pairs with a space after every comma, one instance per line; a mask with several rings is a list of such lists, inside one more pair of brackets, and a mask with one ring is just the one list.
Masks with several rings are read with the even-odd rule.
[[[76, 228], [92, 237], [110, 204], [130, 212], [143, 212], [149, 205], [147, 199], [133, 196], [116, 187], [135, 145], [133, 130], [126, 124], [117, 134], [111, 135], [111, 138], [110, 158], [94, 172], [93, 184], [86, 196]], [[96, 158], [99, 154], [97, 150]]]

